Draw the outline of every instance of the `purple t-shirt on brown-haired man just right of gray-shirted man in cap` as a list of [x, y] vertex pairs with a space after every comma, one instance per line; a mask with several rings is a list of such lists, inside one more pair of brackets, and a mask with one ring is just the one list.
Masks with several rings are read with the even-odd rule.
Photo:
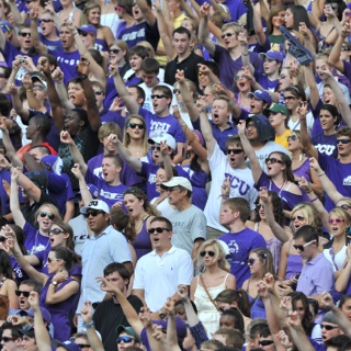
[[263, 237], [249, 228], [239, 233], [227, 233], [222, 235], [219, 240], [229, 247], [229, 254], [226, 257], [230, 264], [230, 273], [237, 279], [237, 288], [250, 278], [248, 265], [249, 252], [256, 248], [267, 248]]

